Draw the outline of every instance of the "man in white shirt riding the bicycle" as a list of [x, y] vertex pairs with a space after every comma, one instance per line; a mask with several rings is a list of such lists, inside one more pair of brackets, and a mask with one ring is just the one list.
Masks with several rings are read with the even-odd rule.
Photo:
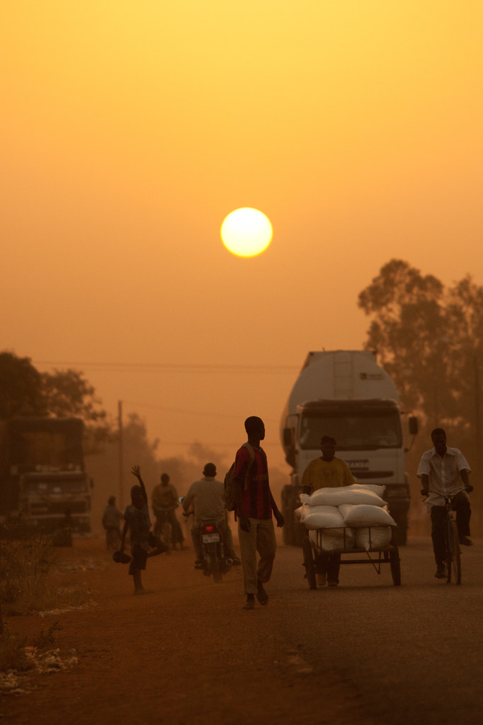
[[455, 496], [453, 510], [456, 512], [456, 525], [460, 544], [472, 546], [470, 536], [471, 508], [468, 493], [473, 490], [468, 480], [471, 468], [458, 448], [448, 448], [446, 434], [442, 428], [434, 428], [431, 439], [434, 447], [421, 456], [416, 476], [421, 479], [421, 493], [427, 496], [426, 504], [431, 514], [431, 537], [437, 579], [445, 577], [445, 499], [443, 496]]

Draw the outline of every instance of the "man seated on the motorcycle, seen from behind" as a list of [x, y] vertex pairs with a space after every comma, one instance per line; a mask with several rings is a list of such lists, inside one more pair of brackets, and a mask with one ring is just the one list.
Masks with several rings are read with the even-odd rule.
[[233, 560], [234, 564], [239, 564], [240, 560], [236, 556], [233, 548], [233, 537], [231, 529], [226, 521], [225, 508], [225, 486], [222, 481], [217, 481], [216, 466], [214, 463], [207, 463], [203, 469], [203, 478], [194, 481], [189, 487], [189, 491], [183, 498], [183, 510], [188, 512], [191, 505], [194, 507], [194, 524], [191, 529], [191, 539], [193, 539], [194, 552], [197, 560], [194, 563], [195, 568], [203, 567], [203, 550], [201, 542], [201, 528], [205, 521], [216, 521], [223, 532], [226, 542], [226, 558]]

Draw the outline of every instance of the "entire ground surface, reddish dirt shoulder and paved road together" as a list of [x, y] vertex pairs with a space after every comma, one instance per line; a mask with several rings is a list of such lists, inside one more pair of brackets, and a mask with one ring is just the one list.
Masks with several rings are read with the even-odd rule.
[[482, 546], [465, 552], [461, 587], [434, 579], [430, 546], [401, 550], [402, 587], [389, 567], [350, 565], [315, 592], [300, 550], [280, 547], [268, 606], [247, 612], [239, 568], [214, 584], [192, 550], [162, 555], [144, 578], [154, 592], [134, 597], [127, 567], [78, 539], [59, 550], [59, 585], [83, 582], [91, 606], [9, 618], [27, 637], [57, 621], [55, 646], [77, 662], [1, 696], [0, 722], [479, 724]]

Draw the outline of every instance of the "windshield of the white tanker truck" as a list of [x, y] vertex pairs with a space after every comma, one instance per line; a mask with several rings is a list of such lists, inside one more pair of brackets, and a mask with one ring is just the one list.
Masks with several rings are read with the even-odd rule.
[[397, 411], [378, 410], [361, 415], [337, 415], [336, 413], [302, 414], [300, 420], [300, 447], [318, 450], [323, 435], [333, 436], [337, 449], [345, 451], [400, 448], [402, 434]]

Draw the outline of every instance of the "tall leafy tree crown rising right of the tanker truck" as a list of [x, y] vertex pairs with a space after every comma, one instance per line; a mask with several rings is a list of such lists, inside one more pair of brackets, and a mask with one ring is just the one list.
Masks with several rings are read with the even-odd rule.
[[445, 288], [408, 262], [391, 260], [360, 292], [358, 305], [372, 317], [364, 347], [378, 352], [402, 407], [428, 428], [457, 431], [482, 471], [483, 288], [470, 276]]

